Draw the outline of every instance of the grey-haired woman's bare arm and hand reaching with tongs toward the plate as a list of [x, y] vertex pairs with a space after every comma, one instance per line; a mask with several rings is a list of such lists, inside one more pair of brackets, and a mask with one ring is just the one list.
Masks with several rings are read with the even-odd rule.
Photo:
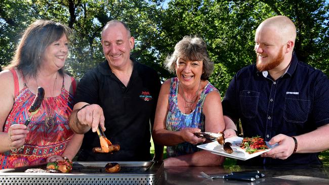
[[170, 83], [170, 79], [166, 80], [163, 82], [160, 89], [152, 131], [154, 143], [164, 146], [173, 146], [183, 142], [188, 142], [191, 144], [198, 144], [203, 142], [203, 139], [198, 138], [193, 134], [194, 132], [199, 132], [199, 128], [185, 128], [180, 131], [167, 130], [166, 117], [169, 110], [168, 98]]

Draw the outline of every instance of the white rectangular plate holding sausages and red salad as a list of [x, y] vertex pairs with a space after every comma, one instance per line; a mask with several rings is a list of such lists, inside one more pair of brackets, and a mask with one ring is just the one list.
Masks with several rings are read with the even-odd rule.
[[254, 154], [249, 154], [248, 152], [245, 152], [243, 149], [241, 149], [239, 147], [240, 143], [242, 142], [242, 139], [243, 139], [242, 137], [238, 137], [238, 136], [234, 136], [234, 137], [225, 139], [225, 142], [230, 142], [232, 144], [231, 148], [233, 149], [233, 153], [231, 153], [231, 154], [224, 152], [223, 146], [220, 145], [217, 141], [212, 142], [212, 143], [203, 144], [203, 145], [198, 145], [197, 147], [200, 149], [203, 149], [203, 150], [207, 150], [213, 154], [245, 161], [245, 160], [251, 159], [253, 157], [259, 156], [259, 155], [271, 150], [275, 146], [275, 145], [270, 146], [266, 142], [266, 145], [268, 146], [269, 149], [263, 150], [260, 152], [256, 152]]

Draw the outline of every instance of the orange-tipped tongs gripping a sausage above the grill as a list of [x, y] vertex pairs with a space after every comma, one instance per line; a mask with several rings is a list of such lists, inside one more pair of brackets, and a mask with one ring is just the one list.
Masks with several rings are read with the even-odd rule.
[[108, 140], [103, 132], [102, 128], [98, 125], [97, 134], [99, 136], [99, 141], [101, 143], [101, 147], [93, 148], [93, 152], [95, 153], [111, 153], [120, 150], [119, 145], [112, 145], [112, 143]]

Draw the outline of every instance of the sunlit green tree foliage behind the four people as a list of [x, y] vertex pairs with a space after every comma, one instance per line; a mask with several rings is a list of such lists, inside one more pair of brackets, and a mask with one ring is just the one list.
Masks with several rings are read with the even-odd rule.
[[72, 29], [66, 68], [79, 79], [104, 60], [101, 30], [107, 21], [126, 22], [136, 39], [132, 56], [170, 74], [164, 61], [184, 35], [199, 35], [215, 62], [210, 81], [225, 92], [232, 76], [255, 62], [257, 26], [275, 15], [290, 17], [297, 27], [295, 51], [302, 61], [329, 74], [329, 6], [321, 0], [3, 0], [0, 2], [0, 62], [7, 65], [19, 33], [35, 19], [51, 19]]

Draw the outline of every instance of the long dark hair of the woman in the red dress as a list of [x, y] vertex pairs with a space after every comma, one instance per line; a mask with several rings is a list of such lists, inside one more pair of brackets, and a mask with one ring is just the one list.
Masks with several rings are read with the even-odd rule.
[[[66, 25], [50, 20], [36, 20], [23, 32], [14, 58], [5, 69], [17, 68], [24, 76], [36, 77], [40, 69], [40, 57], [48, 45], [59, 40], [63, 34], [69, 40], [70, 33]], [[63, 75], [64, 69], [61, 68], [59, 73]]]

